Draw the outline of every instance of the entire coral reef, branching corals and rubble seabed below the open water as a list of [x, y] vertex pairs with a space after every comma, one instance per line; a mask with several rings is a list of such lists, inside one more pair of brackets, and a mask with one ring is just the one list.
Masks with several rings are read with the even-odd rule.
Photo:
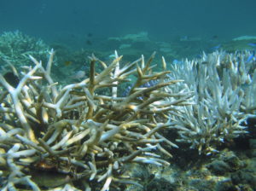
[[[255, 188], [251, 37], [219, 43], [232, 52], [249, 50], [216, 51], [171, 67], [154, 54], [126, 63], [154, 49], [172, 59], [188, 49], [195, 55], [205, 49], [202, 40], [153, 42], [147, 32], [109, 38], [104, 50], [94, 50], [109, 63], [89, 49], [55, 44], [55, 54], [41, 40], [3, 33], [0, 189]], [[126, 60], [109, 56], [109, 45]], [[74, 78], [76, 72], [85, 75]]]

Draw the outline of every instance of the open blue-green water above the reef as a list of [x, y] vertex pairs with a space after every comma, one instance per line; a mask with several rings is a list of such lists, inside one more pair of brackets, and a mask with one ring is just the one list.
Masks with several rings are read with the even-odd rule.
[[94, 39], [148, 32], [174, 38], [256, 35], [255, 0], [11, 0], [0, 1], [0, 32], [20, 30], [45, 41], [83, 47]]

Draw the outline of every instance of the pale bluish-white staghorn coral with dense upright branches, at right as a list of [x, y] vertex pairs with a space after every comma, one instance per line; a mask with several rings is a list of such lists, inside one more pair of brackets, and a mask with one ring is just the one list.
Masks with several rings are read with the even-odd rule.
[[[255, 117], [256, 70], [250, 51], [204, 54], [201, 59], [173, 65], [169, 77], [183, 84], [166, 91], [194, 92], [194, 104], [179, 107], [170, 120], [177, 128], [178, 142], [186, 142], [199, 153], [218, 152], [220, 142], [246, 133], [249, 116]], [[169, 100], [169, 99], [168, 99]]]

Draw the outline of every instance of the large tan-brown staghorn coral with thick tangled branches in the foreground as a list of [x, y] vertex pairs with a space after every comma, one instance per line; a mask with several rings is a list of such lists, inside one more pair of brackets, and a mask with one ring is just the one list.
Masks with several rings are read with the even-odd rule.
[[[125, 164], [169, 165], [155, 151], [171, 157], [163, 145], [177, 145], [160, 131], [172, 125], [168, 111], [188, 101], [186, 94], [164, 91], [180, 80], [165, 82], [168, 71], [152, 72], [154, 55], [148, 62], [142, 56], [121, 68], [122, 56], [117, 53], [109, 66], [91, 55], [90, 78], [64, 87], [50, 76], [53, 57], [52, 50], [43, 67], [30, 56], [35, 66], [19, 74], [17, 87], [0, 75], [4, 88], [0, 95], [1, 190], [108, 190], [111, 182], [114, 188], [142, 187], [127, 176]], [[96, 73], [96, 64], [103, 67], [102, 72]], [[131, 73], [137, 74], [136, 83], [129, 95], [118, 96], [120, 84]], [[142, 87], [150, 80], [159, 83]], [[96, 94], [106, 87], [111, 96]], [[173, 101], [177, 95], [178, 101]], [[42, 176], [40, 181], [37, 174]], [[50, 185], [43, 183], [43, 175], [50, 180], [51, 174], [60, 178]]]

